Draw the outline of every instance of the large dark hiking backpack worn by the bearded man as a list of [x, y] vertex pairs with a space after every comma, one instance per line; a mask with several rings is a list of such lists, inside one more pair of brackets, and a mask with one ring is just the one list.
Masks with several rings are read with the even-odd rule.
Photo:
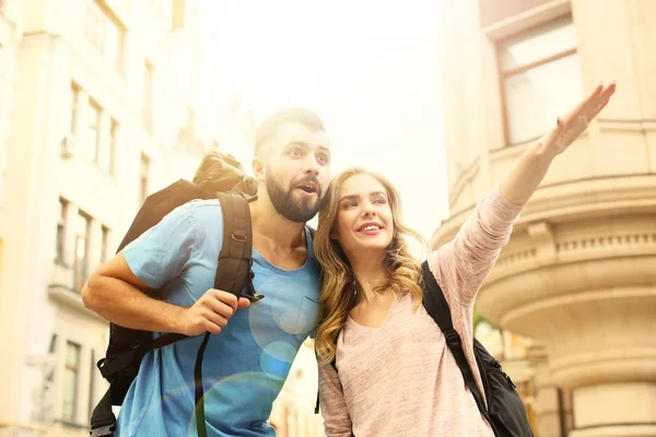
[[[194, 182], [180, 179], [177, 182], [149, 196], [137, 213], [117, 252], [145, 231], [157, 224], [175, 208], [194, 199], [219, 199], [223, 214], [223, 247], [219, 253], [219, 269], [214, 287], [231, 292], [237, 297], [255, 296], [251, 267], [251, 229], [248, 200], [257, 193], [257, 184], [244, 172], [232, 156], [213, 152], [207, 155], [199, 166]], [[246, 294], [243, 294], [244, 287]], [[154, 298], [164, 299], [161, 290], [148, 290]], [[92, 436], [113, 436], [116, 417], [112, 405], [121, 405], [130, 385], [139, 373], [142, 357], [150, 351], [185, 339], [186, 335], [166, 333], [153, 340], [153, 333], [128, 329], [109, 323], [109, 345], [105, 358], [97, 363], [101, 374], [109, 382], [109, 389], [93, 410], [91, 416]], [[204, 409], [202, 403], [201, 364], [204, 349], [210, 338], [204, 334], [198, 351], [195, 366], [196, 421], [199, 436], [206, 436]]]

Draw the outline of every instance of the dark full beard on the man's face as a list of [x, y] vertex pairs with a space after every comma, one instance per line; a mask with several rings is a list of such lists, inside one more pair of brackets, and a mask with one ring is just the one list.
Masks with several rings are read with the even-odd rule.
[[[318, 186], [317, 198], [316, 200], [312, 198], [307, 199], [297, 199], [294, 198], [292, 191], [294, 190], [294, 186], [290, 186], [286, 190], [273, 176], [271, 176], [271, 172], [267, 168], [267, 192], [269, 193], [269, 198], [271, 199], [271, 203], [276, 211], [290, 222], [294, 223], [305, 223], [319, 212], [321, 208], [321, 188]], [[316, 178], [302, 178], [295, 182], [295, 185], [301, 184], [304, 179], [308, 179], [316, 182]]]

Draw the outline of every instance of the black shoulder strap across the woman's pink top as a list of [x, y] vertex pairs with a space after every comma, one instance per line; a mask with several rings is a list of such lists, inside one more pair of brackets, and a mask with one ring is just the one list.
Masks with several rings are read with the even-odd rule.
[[450, 309], [448, 307], [448, 303], [444, 297], [444, 293], [437, 284], [433, 272], [429, 268], [429, 262], [424, 261], [422, 264], [423, 270], [423, 281], [424, 281], [424, 293], [423, 293], [423, 305], [426, 309], [426, 312], [431, 318], [435, 321], [435, 323], [444, 333], [446, 338], [446, 344], [450, 350], [452, 354], [456, 358], [456, 363], [460, 368], [460, 373], [462, 374], [462, 378], [465, 379], [465, 383], [471, 391], [476, 404], [481, 414], [487, 414], [485, 404], [483, 402], [483, 398], [479, 388], [476, 383], [476, 379], [473, 378], [473, 373], [471, 371], [471, 367], [465, 357], [465, 351], [462, 350], [462, 340], [460, 339], [460, 334], [454, 329], [454, 322], [450, 315]]

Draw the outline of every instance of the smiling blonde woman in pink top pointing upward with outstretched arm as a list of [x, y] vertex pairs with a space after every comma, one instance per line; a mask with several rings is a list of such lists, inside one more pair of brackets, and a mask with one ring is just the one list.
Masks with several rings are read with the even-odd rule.
[[[553, 158], [585, 131], [614, 88], [599, 84], [559, 118], [477, 204], [458, 235], [429, 257], [479, 388], [472, 345], [477, 293]], [[315, 236], [324, 269], [316, 352], [326, 434], [493, 436], [421, 305], [421, 264], [403, 243], [407, 234], [398, 193], [383, 177], [355, 168], [332, 180]]]

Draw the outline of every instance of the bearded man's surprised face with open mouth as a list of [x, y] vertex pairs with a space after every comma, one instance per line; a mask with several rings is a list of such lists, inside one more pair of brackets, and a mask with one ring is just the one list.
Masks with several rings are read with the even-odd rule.
[[263, 147], [265, 185], [273, 208], [291, 222], [307, 222], [319, 211], [330, 184], [326, 133], [285, 122]]

